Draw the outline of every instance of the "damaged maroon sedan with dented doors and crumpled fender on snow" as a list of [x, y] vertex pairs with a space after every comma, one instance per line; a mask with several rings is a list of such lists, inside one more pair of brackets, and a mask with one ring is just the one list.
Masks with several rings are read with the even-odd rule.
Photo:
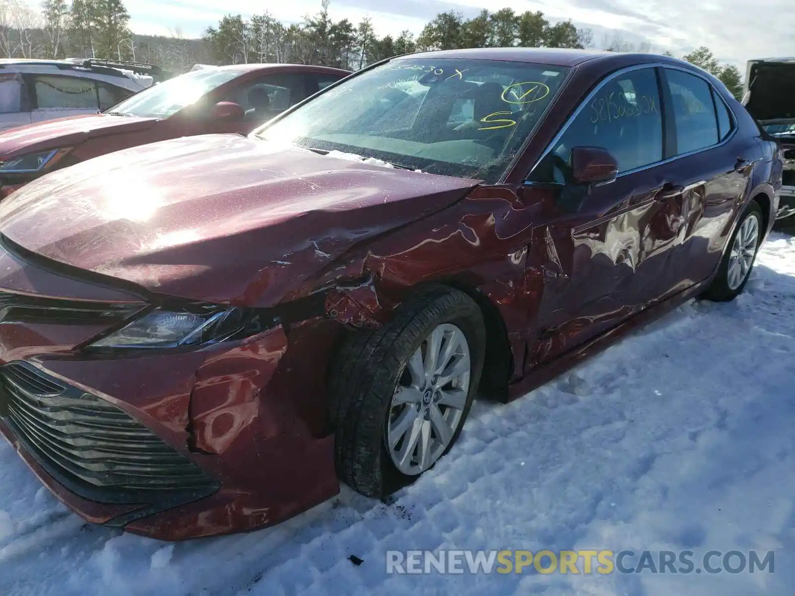
[[742, 292], [781, 187], [761, 134], [665, 56], [484, 49], [52, 172], [0, 203], [0, 430], [159, 539], [380, 497], [476, 395]]

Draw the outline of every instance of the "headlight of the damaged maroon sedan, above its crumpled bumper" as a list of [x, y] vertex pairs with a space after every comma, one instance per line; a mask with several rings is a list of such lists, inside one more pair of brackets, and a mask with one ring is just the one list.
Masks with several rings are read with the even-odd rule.
[[169, 348], [199, 346], [228, 339], [258, 319], [240, 308], [156, 308], [91, 343], [92, 348]]

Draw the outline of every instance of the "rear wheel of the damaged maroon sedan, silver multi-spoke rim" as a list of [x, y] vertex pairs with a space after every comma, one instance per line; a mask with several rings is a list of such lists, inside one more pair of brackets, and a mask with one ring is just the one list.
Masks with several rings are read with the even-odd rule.
[[754, 269], [763, 235], [762, 209], [756, 201], [751, 201], [727, 243], [715, 279], [704, 292], [706, 298], [727, 302], [743, 292]]

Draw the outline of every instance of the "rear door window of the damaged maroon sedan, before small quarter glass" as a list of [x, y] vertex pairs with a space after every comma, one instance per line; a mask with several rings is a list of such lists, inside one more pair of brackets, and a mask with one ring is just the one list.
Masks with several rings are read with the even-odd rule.
[[715, 145], [719, 140], [718, 121], [709, 83], [700, 76], [669, 68], [665, 75], [673, 103], [677, 155]]

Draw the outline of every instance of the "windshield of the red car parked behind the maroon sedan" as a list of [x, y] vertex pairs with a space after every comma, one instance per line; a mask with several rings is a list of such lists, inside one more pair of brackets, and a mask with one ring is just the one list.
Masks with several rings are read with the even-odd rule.
[[168, 118], [203, 95], [239, 76], [240, 71], [210, 68], [175, 76], [149, 87], [119, 103], [106, 114], [125, 114], [141, 118]]

